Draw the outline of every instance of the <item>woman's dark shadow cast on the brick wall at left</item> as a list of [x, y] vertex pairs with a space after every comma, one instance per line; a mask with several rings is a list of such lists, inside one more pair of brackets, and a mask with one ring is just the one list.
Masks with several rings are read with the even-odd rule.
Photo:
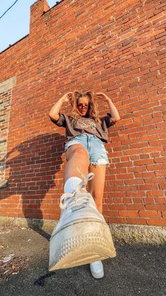
[[[21, 196], [22, 201], [18, 206], [23, 206], [23, 215], [28, 226], [48, 240], [50, 235], [42, 230], [44, 222], [41, 204], [52, 187], [55, 187], [55, 191], [60, 195], [56, 174], [64, 162], [64, 142], [65, 136], [60, 134], [42, 134], [36, 138], [31, 136], [5, 156], [8, 187], [1, 189], [0, 200], [13, 195]], [[58, 199], [54, 196], [51, 199], [51, 210], [53, 204], [55, 207], [58, 205]], [[37, 227], [32, 225], [29, 218], [40, 219]]]

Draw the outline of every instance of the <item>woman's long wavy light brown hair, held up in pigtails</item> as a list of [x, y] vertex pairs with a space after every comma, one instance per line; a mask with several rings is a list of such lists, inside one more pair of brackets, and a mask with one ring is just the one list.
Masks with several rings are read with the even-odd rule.
[[87, 117], [91, 117], [94, 119], [96, 124], [101, 126], [101, 119], [98, 116], [98, 103], [94, 98], [94, 92], [87, 91], [86, 93], [80, 93], [78, 90], [75, 90], [72, 93], [71, 105], [72, 105], [72, 117], [75, 119], [79, 119], [82, 117], [82, 114], [79, 112], [77, 108], [77, 102], [80, 97], [87, 97], [89, 100], [89, 107], [87, 111]]

